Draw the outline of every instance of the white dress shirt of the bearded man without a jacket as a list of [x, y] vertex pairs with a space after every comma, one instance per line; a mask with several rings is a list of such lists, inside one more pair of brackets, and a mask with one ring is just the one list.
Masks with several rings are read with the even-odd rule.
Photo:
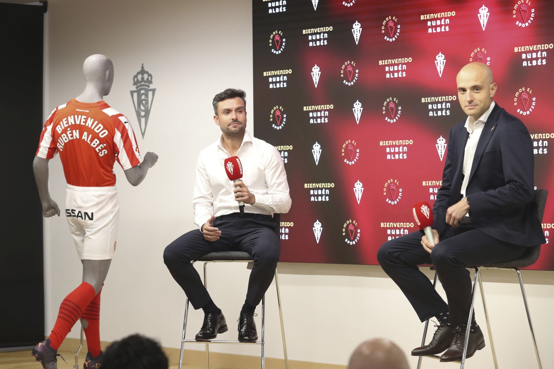
[[[198, 156], [192, 204], [194, 224], [200, 230], [212, 215], [239, 212], [233, 181], [227, 177], [224, 167], [225, 159], [231, 155], [223, 148], [222, 140], [220, 136]], [[278, 150], [245, 131], [237, 156], [244, 170], [242, 180], [256, 198], [254, 205], [245, 204], [244, 212], [267, 215], [288, 212], [292, 201]]]

